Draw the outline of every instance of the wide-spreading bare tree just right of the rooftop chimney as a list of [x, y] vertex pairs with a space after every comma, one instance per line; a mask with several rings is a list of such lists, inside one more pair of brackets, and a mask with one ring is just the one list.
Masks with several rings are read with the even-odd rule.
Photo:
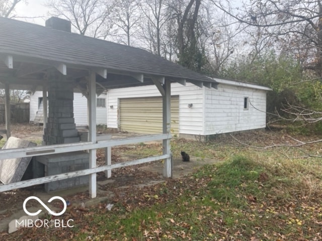
[[108, 21], [113, 5], [104, 0], [49, 0], [51, 14], [64, 17], [81, 35], [106, 38], [113, 27]]

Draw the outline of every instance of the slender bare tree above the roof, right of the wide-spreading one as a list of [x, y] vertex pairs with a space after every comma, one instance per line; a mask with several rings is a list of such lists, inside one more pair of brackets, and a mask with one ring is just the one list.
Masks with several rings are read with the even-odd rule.
[[[137, 27], [140, 20], [139, 6], [131, 0], [120, 0], [115, 2], [113, 18], [115, 25], [119, 28], [116, 31], [119, 42], [128, 46], [131, 45], [131, 36], [134, 34], [134, 28]], [[122, 36], [126, 36], [126, 41]]]

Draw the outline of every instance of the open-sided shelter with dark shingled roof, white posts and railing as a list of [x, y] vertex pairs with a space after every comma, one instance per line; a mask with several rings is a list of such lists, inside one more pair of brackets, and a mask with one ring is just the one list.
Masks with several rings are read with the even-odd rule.
[[[52, 17], [43, 27], [0, 18], [0, 88], [6, 90], [7, 137], [11, 135], [9, 90], [42, 90], [44, 98], [43, 146], [0, 150], [1, 159], [89, 150], [89, 169], [1, 185], [0, 191], [89, 175], [90, 196], [94, 198], [97, 172], [105, 171], [108, 177], [113, 168], [156, 160], [165, 160], [164, 176], [171, 177], [171, 82], [217, 87], [216, 81], [143, 49], [71, 33], [70, 23], [65, 20]], [[117, 141], [97, 140], [96, 94], [142, 85], [155, 85], [162, 95], [162, 133]], [[45, 114], [47, 92], [49, 111]], [[88, 98], [88, 142], [79, 142], [75, 129], [73, 92]], [[106, 165], [96, 166], [98, 148], [106, 148], [110, 153], [113, 146], [154, 140], [163, 140], [163, 155], [113, 165], [107, 155]]]

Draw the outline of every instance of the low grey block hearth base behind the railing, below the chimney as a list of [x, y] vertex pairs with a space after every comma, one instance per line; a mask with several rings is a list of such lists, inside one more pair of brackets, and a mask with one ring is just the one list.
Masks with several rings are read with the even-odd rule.
[[[34, 157], [34, 178], [46, 177], [66, 172], [74, 172], [89, 169], [89, 153], [70, 152]], [[86, 185], [89, 176], [72, 177], [69, 179], [45, 183], [45, 191], [67, 189], [74, 186]]]

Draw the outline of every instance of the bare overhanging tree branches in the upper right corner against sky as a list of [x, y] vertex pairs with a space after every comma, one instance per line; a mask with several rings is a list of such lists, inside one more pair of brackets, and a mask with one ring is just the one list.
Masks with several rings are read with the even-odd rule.
[[322, 76], [321, 0], [256, 0], [238, 10], [233, 10], [228, 2], [212, 2], [240, 23], [267, 29], [271, 36], [278, 37], [284, 51], [296, 50], [303, 67]]

